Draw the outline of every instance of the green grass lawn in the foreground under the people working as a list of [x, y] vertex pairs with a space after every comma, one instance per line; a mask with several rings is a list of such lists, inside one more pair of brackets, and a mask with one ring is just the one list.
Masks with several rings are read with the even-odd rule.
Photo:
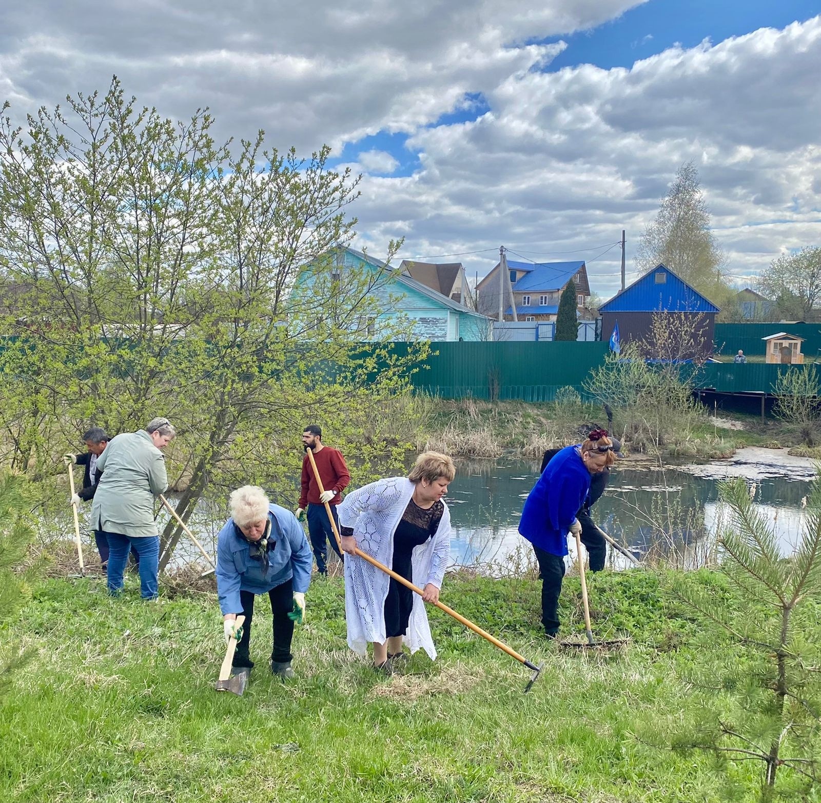
[[[447, 578], [443, 601], [544, 663], [526, 696], [521, 664], [438, 610], [439, 659], [417, 653], [406, 673], [379, 678], [346, 646], [338, 578], [311, 586], [297, 678], [283, 683], [266, 668], [260, 599], [258, 663], [237, 698], [213, 691], [213, 594], [145, 603], [135, 577], [121, 600], [102, 579], [49, 580], [0, 631], [39, 650], [0, 700], [0, 800], [704, 803], [724, 799], [727, 778], [754, 799], [757, 767], [718, 774], [708, 755], [636, 736], [694, 705], [676, 669], [697, 660], [704, 624], [665, 601], [654, 573], [602, 573], [590, 586], [597, 635], [632, 638], [620, 654], [545, 641], [538, 582]], [[564, 632], [579, 632], [575, 577], [562, 606]]]

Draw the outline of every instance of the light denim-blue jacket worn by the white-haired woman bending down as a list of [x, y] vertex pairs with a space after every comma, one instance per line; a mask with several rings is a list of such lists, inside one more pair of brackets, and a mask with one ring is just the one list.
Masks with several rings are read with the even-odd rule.
[[278, 504], [268, 505], [271, 532], [268, 541], [268, 570], [262, 562], [249, 557], [250, 543], [242, 537], [234, 520], [229, 518], [217, 536], [217, 594], [222, 615], [241, 614], [240, 591], [265, 594], [291, 577], [294, 591], [308, 591], [313, 568], [305, 530], [290, 510]]

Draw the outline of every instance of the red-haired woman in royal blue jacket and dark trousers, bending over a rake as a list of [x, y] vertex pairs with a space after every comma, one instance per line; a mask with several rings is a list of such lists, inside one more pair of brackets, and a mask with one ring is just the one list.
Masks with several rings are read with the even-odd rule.
[[533, 545], [539, 561], [542, 624], [551, 638], [559, 630], [558, 602], [567, 534], [581, 532], [576, 513], [587, 498], [591, 475], [612, 466], [615, 460], [607, 431], [594, 430], [583, 443], [566, 446], [551, 459], [525, 500], [519, 532]]

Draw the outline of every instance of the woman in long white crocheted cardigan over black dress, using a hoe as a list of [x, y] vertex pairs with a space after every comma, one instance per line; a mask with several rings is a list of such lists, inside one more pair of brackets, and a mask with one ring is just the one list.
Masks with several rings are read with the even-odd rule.
[[[337, 508], [345, 559], [348, 644], [365, 655], [374, 645], [374, 666], [392, 674], [406, 637], [436, 658], [425, 602], [437, 602], [450, 561], [451, 515], [442, 497], [456, 475], [447, 454], [424, 452], [408, 477], [371, 482], [348, 494]], [[420, 597], [356, 557], [359, 547], [424, 590]]]

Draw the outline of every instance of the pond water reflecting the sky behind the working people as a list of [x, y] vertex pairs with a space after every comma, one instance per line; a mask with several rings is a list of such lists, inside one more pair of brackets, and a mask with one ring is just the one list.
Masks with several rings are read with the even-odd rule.
[[[446, 500], [452, 518], [454, 565], [509, 571], [521, 559], [530, 560], [532, 550], [517, 527], [525, 498], [538, 476], [537, 461], [457, 463]], [[730, 460], [665, 468], [626, 459], [617, 464], [607, 492], [594, 506], [594, 520], [638, 558], [649, 550], [662, 550], [667, 560], [692, 568], [711, 554], [721, 525], [718, 481], [735, 476], [745, 477], [748, 485], [755, 483], [754, 500], [773, 523], [782, 553], [789, 554], [800, 532], [801, 500], [809, 492], [814, 463], [791, 458], [782, 449], [741, 449]], [[198, 510], [201, 523], [195, 532], [209, 552], [225, 520], [219, 508], [209, 504]], [[662, 532], [667, 536], [660, 536]], [[183, 539], [175, 563], [196, 558], [195, 549]], [[608, 561], [612, 568], [631, 565], [617, 552]]]

